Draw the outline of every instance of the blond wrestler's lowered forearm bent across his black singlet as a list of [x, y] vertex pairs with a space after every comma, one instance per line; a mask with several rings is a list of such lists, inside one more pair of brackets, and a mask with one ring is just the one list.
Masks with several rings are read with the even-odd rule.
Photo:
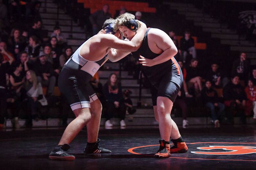
[[[154, 65], [157, 65], [157, 64], [161, 64], [161, 63], [164, 63], [168, 60], [170, 60], [174, 55], [176, 55], [178, 53], [178, 50], [177, 48], [168, 48], [166, 50], [164, 50], [164, 52], [160, 55], [158, 55], [156, 58], [153, 59], [154, 61]], [[147, 56], [145, 56], [147, 57]]]

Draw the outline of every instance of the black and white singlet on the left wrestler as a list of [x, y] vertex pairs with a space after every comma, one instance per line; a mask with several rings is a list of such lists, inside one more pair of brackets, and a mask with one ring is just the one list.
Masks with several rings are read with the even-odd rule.
[[72, 110], [91, 107], [90, 103], [98, 99], [89, 81], [107, 59], [107, 55], [98, 61], [84, 59], [79, 52], [87, 41], [65, 63], [58, 79], [60, 92], [67, 97]]

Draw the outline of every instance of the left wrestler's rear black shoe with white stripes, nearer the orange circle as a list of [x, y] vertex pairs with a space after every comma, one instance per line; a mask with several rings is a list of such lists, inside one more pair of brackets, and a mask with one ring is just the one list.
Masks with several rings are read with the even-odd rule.
[[111, 153], [108, 149], [102, 148], [99, 145], [100, 139], [97, 140], [95, 143], [87, 143], [86, 147], [84, 148], [85, 154], [95, 154], [95, 153]]

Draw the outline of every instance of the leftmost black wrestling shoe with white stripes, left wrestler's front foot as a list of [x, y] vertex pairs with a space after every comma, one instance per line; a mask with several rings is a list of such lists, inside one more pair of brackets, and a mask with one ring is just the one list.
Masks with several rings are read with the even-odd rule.
[[52, 160], [75, 160], [74, 155], [67, 153], [70, 146], [68, 144], [58, 145], [53, 148], [52, 152], [49, 154], [49, 158]]

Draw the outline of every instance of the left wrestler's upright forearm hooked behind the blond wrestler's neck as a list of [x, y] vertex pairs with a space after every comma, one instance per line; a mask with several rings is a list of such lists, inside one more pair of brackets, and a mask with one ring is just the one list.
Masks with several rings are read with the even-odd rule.
[[132, 51], [137, 51], [140, 48], [140, 44], [142, 43], [144, 35], [146, 33], [146, 29], [147, 29], [146, 24], [144, 24], [143, 22], [140, 22], [140, 23], [141, 23], [140, 29], [130, 41], [131, 43], [134, 44], [134, 47], [135, 47]]

